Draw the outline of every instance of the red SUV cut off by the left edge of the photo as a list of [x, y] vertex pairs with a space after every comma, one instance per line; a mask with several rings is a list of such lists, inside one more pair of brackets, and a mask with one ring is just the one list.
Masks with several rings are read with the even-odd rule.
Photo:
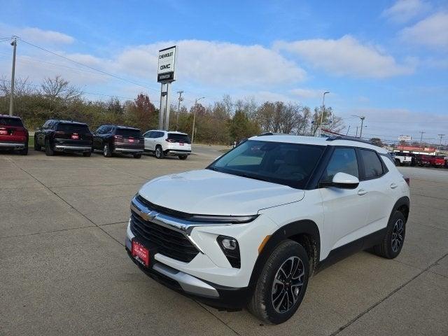
[[19, 117], [0, 114], [0, 149], [28, 154], [28, 130]]

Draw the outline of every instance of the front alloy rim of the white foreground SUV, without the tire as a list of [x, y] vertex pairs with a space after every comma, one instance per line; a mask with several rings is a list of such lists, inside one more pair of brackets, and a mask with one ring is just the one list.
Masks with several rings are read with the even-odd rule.
[[272, 306], [278, 313], [291, 309], [304, 284], [304, 265], [302, 260], [293, 256], [286, 259], [274, 276], [272, 283]]

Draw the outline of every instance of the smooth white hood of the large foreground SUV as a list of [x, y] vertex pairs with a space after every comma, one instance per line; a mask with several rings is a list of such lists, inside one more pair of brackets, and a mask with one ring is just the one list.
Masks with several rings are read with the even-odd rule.
[[225, 216], [253, 215], [260, 209], [304, 197], [303, 190], [210, 169], [153, 179], [139, 194], [160, 207], [188, 214]]

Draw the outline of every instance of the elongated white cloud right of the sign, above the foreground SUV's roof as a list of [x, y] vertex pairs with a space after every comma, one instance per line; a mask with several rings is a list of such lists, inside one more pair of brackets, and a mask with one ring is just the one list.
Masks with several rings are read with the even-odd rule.
[[309, 64], [338, 76], [387, 78], [414, 72], [414, 65], [400, 65], [391, 55], [373, 45], [363, 45], [352, 36], [333, 39], [311, 39], [295, 42], [279, 41], [279, 50], [287, 50]]

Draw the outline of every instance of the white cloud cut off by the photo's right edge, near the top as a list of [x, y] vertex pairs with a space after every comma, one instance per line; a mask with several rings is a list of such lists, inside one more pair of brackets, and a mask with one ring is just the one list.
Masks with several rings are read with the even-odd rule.
[[400, 31], [404, 41], [430, 48], [448, 49], [448, 12], [439, 12]]

